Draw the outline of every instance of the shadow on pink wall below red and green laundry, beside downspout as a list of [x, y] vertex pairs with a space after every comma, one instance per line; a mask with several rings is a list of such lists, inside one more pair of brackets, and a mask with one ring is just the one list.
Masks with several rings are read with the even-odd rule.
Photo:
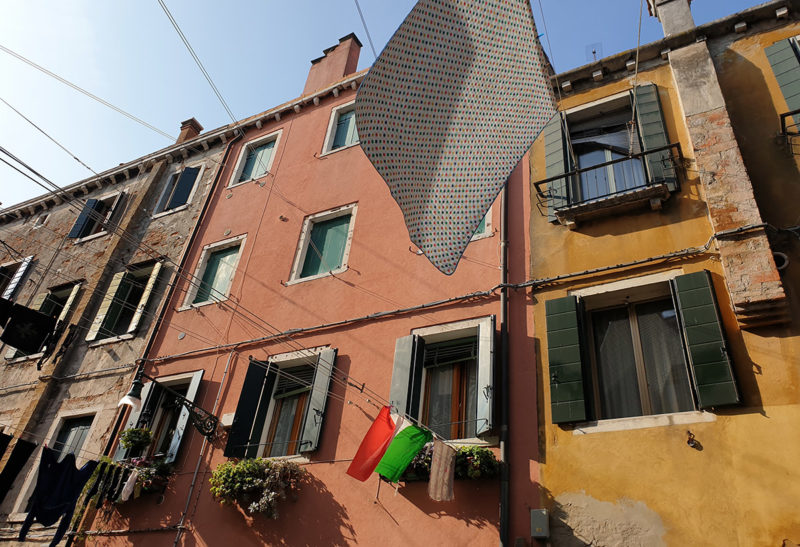
[[[427, 481], [406, 483], [398, 492], [417, 509], [434, 519], [450, 517], [475, 528], [490, 527], [499, 530], [499, 485], [499, 481], [488, 479], [455, 481], [453, 501], [433, 501], [428, 496]], [[387, 488], [381, 493], [381, 496], [384, 495], [394, 495], [394, 492]]]

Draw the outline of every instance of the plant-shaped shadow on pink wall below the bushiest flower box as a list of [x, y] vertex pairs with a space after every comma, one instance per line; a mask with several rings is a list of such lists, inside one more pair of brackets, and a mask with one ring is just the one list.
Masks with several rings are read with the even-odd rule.
[[[288, 498], [278, 506], [279, 516], [276, 520], [263, 515], [249, 515], [238, 507], [226, 505], [219, 507], [225, 515], [219, 515], [219, 525], [230, 530], [237, 530], [238, 537], [231, 537], [231, 542], [240, 545], [351, 545], [357, 543], [356, 531], [350, 524], [347, 510], [337, 502], [325, 484], [313, 475], [297, 492], [297, 500], [302, 499], [310, 503], [300, 505], [296, 500]], [[246, 528], [236, 526], [235, 522], [223, 524], [226, 519], [233, 519], [234, 514], [245, 522]], [[207, 523], [208, 524], [208, 523]], [[211, 524], [216, 528], [217, 524]], [[195, 529], [197, 536], [184, 534], [184, 545], [201, 546], [214, 545], [213, 538], [219, 539], [220, 530], [214, 530], [208, 540], [203, 538], [202, 527]], [[243, 533], [242, 533], [243, 532]], [[219, 545], [219, 543], [216, 543]]]

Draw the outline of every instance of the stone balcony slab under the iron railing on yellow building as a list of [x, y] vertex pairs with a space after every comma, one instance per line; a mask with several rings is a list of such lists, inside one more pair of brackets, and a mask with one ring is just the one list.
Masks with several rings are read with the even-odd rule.
[[556, 218], [559, 223], [574, 230], [580, 222], [605, 216], [614, 216], [648, 205], [652, 210], [659, 210], [662, 203], [669, 198], [669, 195], [669, 188], [664, 183], [642, 186], [618, 194], [562, 207], [556, 210]]

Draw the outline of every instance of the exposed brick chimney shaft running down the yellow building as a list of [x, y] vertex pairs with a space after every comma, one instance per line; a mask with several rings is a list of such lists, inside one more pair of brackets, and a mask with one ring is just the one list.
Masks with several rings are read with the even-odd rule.
[[[670, 53], [697, 170], [714, 231], [762, 223], [705, 43]], [[789, 320], [788, 301], [764, 228], [717, 240], [731, 302], [742, 327]]]

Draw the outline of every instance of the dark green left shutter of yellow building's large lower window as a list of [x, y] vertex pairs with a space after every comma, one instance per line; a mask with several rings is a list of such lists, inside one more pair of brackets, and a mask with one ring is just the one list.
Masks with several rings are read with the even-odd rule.
[[545, 302], [550, 410], [554, 424], [586, 420], [578, 299]]

